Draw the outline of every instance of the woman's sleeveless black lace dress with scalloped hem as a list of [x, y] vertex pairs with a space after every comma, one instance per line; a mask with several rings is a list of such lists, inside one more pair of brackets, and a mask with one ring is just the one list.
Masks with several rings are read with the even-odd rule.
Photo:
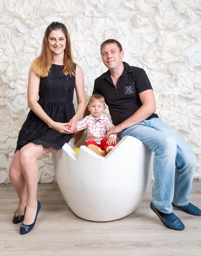
[[[55, 122], [68, 122], [75, 115], [73, 93], [75, 76], [65, 76], [61, 65], [52, 64], [48, 77], [40, 78], [38, 103]], [[73, 134], [60, 134], [48, 128], [32, 110], [29, 111], [17, 140], [16, 151], [33, 143], [46, 149], [59, 150], [68, 143]], [[15, 151], [15, 152], [16, 152]]]

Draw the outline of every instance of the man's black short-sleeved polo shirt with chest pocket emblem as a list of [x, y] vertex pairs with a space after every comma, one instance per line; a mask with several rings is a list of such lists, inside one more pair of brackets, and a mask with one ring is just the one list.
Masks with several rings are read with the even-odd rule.
[[[116, 89], [108, 70], [95, 79], [92, 93], [100, 93], [104, 96], [114, 125], [118, 125], [132, 116], [142, 106], [139, 93], [152, 89], [142, 68], [129, 66], [126, 62], [123, 62], [123, 65], [124, 70], [118, 79]], [[146, 120], [153, 117], [158, 117], [158, 115], [154, 113]]]

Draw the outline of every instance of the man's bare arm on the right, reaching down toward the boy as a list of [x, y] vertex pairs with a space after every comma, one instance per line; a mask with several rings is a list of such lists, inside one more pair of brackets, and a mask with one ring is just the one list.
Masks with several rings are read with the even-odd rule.
[[121, 124], [109, 128], [107, 136], [109, 136], [109, 134], [120, 133], [122, 130], [144, 121], [146, 118], [151, 116], [151, 114], [155, 113], [155, 98], [153, 90], [145, 90], [144, 92], [139, 93], [139, 96], [142, 106]]

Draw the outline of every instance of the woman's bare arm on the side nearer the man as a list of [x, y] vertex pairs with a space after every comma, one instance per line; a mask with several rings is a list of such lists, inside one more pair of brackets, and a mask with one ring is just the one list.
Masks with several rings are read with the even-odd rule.
[[84, 93], [84, 76], [81, 67], [77, 64], [75, 73], [75, 92], [78, 100], [78, 107], [75, 116], [69, 121], [68, 127], [74, 131], [77, 128], [77, 122], [83, 114], [86, 107], [86, 99]]

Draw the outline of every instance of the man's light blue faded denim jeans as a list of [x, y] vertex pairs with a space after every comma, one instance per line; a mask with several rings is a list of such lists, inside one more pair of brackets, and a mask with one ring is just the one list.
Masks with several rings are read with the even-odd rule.
[[119, 133], [141, 140], [155, 152], [152, 200], [164, 213], [172, 212], [172, 202], [185, 206], [192, 189], [197, 159], [184, 139], [160, 118], [145, 120]]

